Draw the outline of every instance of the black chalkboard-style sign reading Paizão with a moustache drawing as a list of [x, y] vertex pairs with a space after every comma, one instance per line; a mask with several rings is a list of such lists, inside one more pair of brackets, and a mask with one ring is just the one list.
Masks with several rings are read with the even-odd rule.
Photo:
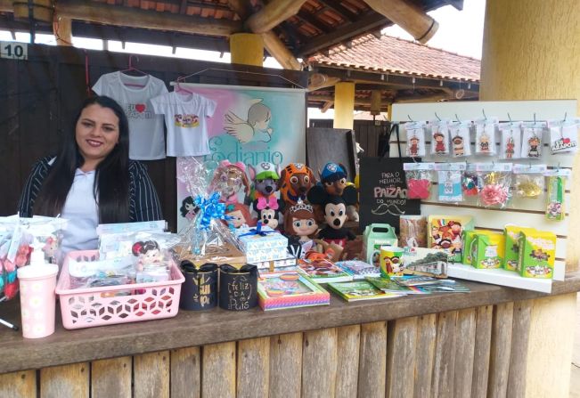
[[[397, 135], [398, 126], [393, 126]], [[415, 161], [417, 159], [415, 158]], [[388, 223], [399, 230], [399, 216], [421, 215], [421, 200], [407, 199], [403, 163], [412, 158], [361, 158], [360, 160], [360, 229], [371, 223]]]

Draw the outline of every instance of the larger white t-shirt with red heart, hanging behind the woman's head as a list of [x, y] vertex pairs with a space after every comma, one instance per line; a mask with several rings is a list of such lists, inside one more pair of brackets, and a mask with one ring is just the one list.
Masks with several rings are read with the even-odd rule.
[[99, 77], [93, 91], [112, 98], [125, 110], [129, 120], [129, 158], [165, 158], [163, 117], [151, 110], [151, 98], [167, 93], [162, 80], [151, 75], [113, 72]]

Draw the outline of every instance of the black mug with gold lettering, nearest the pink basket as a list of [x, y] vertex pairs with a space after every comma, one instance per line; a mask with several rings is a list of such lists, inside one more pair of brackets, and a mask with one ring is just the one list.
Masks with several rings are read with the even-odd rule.
[[199, 268], [190, 261], [181, 263], [185, 281], [181, 286], [179, 308], [191, 311], [208, 310], [217, 305], [217, 264]]

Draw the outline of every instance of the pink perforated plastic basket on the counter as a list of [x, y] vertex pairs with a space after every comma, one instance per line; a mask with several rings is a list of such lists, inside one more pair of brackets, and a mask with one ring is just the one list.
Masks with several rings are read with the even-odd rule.
[[[69, 258], [98, 258], [96, 250], [73, 251], [65, 258], [56, 286], [60, 296], [62, 325], [66, 329], [90, 328], [115, 323], [148, 321], [176, 316], [184, 275], [175, 263], [171, 280], [101, 288], [70, 288]], [[133, 292], [115, 296], [115, 292]]]

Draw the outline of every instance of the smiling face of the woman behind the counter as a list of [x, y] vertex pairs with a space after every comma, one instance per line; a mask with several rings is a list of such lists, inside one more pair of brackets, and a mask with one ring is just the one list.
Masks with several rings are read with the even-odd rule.
[[109, 108], [92, 104], [82, 110], [75, 137], [78, 150], [85, 159], [83, 168], [95, 168], [118, 142], [118, 118]]

